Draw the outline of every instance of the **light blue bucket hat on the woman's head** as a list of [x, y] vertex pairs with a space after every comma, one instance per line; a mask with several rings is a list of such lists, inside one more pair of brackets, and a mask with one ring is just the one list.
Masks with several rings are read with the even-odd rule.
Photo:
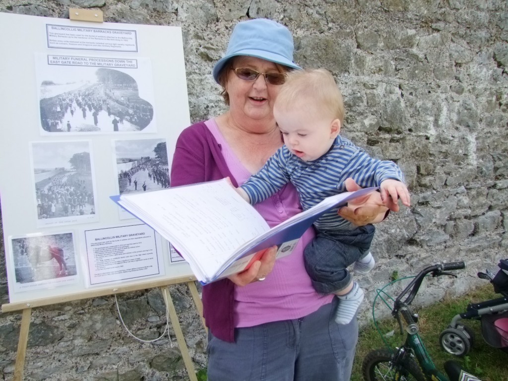
[[219, 73], [226, 62], [237, 55], [263, 58], [301, 69], [293, 61], [293, 50], [293, 36], [284, 25], [265, 18], [241, 21], [233, 29], [226, 54], [213, 67], [213, 79], [218, 83]]

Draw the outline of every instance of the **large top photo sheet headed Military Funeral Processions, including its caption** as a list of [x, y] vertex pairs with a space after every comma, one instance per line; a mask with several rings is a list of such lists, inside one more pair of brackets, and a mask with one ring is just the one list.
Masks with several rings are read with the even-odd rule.
[[36, 57], [42, 135], [156, 131], [148, 59]]

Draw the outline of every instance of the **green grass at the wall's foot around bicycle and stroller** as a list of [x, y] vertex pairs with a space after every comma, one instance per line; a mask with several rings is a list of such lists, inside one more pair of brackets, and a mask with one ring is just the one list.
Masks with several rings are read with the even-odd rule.
[[[475, 334], [474, 344], [468, 355], [456, 357], [445, 352], [439, 344], [439, 335], [442, 330], [448, 328], [452, 318], [457, 314], [466, 311], [468, 303], [483, 302], [489, 299], [500, 297], [495, 294], [492, 285], [486, 283], [482, 288], [470, 292], [460, 298], [446, 299], [436, 305], [420, 308], [415, 311], [419, 313], [420, 336], [427, 348], [436, 367], [444, 373], [443, 363], [447, 360], [455, 360], [464, 366], [470, 373], [477, 375], [482, 381], [508, 381], [508, 353], [499, 348], [494, 348], [487, 344], [482, 337], [481, 322], [478, 320], [462, 320], [461, 323], [467, 325]], [[379, 298], [378, 298], [379, 301]], [[377, 302], [376, 302], [377, 305]], [[384, 308], [388, 308], [384, 306]], [[404, 341], [404, 336], [400, 334], [398, 323], [390, 318], [378, 322], [379, 330], [386, 335], [394, 331], [393, 335], [388, 335], [386, 340], [392, 347], [399, 346]], [[378, 348], [385, 347], [382, 337], [377, 332], [373, 323], [360, 330], [360, 336], [357, 346], [357, 354], [353, 366], [352, 381], [362, 381], [362, 361], [365, 356]]]

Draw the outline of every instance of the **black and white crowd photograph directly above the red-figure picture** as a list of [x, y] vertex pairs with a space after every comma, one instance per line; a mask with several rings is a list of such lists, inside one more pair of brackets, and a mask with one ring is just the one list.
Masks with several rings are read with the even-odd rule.
[[38, 226], [98, 221], [89, 141], [32, 142]]

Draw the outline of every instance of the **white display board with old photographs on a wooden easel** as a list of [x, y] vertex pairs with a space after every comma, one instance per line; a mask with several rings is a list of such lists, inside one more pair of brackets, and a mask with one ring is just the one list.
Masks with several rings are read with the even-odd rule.
[[192, 277], [109, 196], [169, 186], [190, 124], [180, 27], [0, 13], [10, 303]]

